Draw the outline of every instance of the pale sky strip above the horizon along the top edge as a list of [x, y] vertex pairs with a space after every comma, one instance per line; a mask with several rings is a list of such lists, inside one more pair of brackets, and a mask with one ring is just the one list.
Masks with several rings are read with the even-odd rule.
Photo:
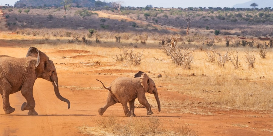
[[[18, 0], [0, 0], [0, 5], [14, 5]], [[230, 7], [235, 4], [249, 2], [251, 0], [100, 0], [102, 2], [122, 2], [122, 6], [131, 7], [146, 7], [152, 5], [153, 7], [163, 8], [188, 8], [188, 7]]]

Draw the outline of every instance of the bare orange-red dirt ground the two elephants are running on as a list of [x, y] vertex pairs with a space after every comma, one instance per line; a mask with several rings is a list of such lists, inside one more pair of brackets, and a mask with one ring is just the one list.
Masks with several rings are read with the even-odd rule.
[[[10, 47], [8, 43], [0, 41], [0, 55], [13, 57], [25, 57], [27, 48]], [[106, 69], [105, 66], [89, 66], [84, 63], [92, 60], [96, 54], [88, 51], [64, 50], [64, 49], [40, 49], [45, 52], [55, 63], [60, 93], [71, 102], [71, 109], [67, 104], [60, 101], [54, 94], [53, 86], [44, 79], [37, 79], [34, 84], [33, 96], [36, 102], [35, 110], [38, 116], [27, 115], [28, 111], [21, 111], [21, 105], [25, 99], [21, 92], [10, 95], [11, 106], [15, 112], [7, 115], [0, 109], [0, 135], [27, 135], [27, 136], [81, 136], [78, 127], [83, 125], [95, 126], [92, 118], [99, 117], [98, 108], [106, 101], [107, 90], [96, 81], [100, 79], [109, 85], [118, 76], [133, 76], [136, 70]], [[77, 56], [63, 59], [67, 56]], [[85, 57], [80, 57], [85, 55]], [[157, 83], [160, 84], [160, 83]], [[184, 98], [180, 93], [164, 91], [158, 88], [160, 100]], [[149, 94], [146, 94], [149, 95]], [[0, 99], [2, 101], [2, 98]], [[2, 107], [2, 102], [0, 102]], [[183, 108], [183, 107], [181, 107]], [[211, 107], [213, 108], [213, 107]], [[157, 108], [152, 109], [154, 114], [167, 127], [178, 125], [189, 125], [199, 135], [268, 135], [272, 132], [272, 114], [255, 113], [240, 110], [215, 110], [213, 115], [196, 115], [185, 113], [171, 113], [171, 109], [164, 106], [161, 112]], [[145, 108], [136, 108], [135, 114], [140, 117], [147, 117]], [[115, 104], [108, 108], [103, 117], [110, 115], [124, 117], [121, 104]]]

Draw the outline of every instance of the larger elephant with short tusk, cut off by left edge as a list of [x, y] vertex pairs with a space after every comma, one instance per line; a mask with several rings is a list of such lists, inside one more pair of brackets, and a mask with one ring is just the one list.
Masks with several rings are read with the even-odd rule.
[[28, 115], [38, 115], [34, 109], [35, 100], [32, 93], [34, 82], [38, 77], [52, 82], [56, 96], [67, 102], [70, 108], [69, 100], [60, 95], [58, 76], [53, 61], [49, 60], [42, 51], [30, 47], [25, 58], [0, 55], [0, 93], [6, 114], [15, 110], [9, 104], [9, 94], [21, 90], [27, 101], [22, 104], [21, 110], [29, 110]]

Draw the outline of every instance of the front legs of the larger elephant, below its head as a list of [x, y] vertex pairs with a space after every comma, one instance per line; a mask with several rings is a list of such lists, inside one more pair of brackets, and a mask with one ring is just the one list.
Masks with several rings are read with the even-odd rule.
[[21, 106], [21, 110], [29, 110], [28, 115], [38, 115], [38, 113], [35, 111], [35, 100], [33, 98], [32, 89], [31, 91], [22, 89], [21, 90], [22, 95], [25, 97], [27, 102], [24, 102]]

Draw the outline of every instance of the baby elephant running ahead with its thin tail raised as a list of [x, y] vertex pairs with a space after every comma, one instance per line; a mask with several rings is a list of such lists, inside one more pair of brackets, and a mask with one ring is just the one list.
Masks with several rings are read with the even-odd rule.
[[[101, 81], [99, 82], [102, 83]], [[135, 117], [136, 115], [134, 114], [134, 104], [136, 98], [138, 98], [140, 104], [147, 108], [147, 115], [152, 115], [153, 112], [145, 97], [145, 92], [154, 94], [154, 97], [157, 100], [158, 111], [160, 112], [160, 102], [158, 98], [157, 87], [155, 86], [153, 80], [148, 77], [146, 73], [139, 71], [136, 73], [135, 78], [119, 77], [115, 79], [109, 87], [105, 87], [104, 85], [103, 87], [109, 90], [109, 92], [106, 104], [99, 108], [99, 115], [101, 116], [109, 106], [118, 102], [122, 104], [125, 116]], [[128, 102], [130, 111], [127, 106]]]

